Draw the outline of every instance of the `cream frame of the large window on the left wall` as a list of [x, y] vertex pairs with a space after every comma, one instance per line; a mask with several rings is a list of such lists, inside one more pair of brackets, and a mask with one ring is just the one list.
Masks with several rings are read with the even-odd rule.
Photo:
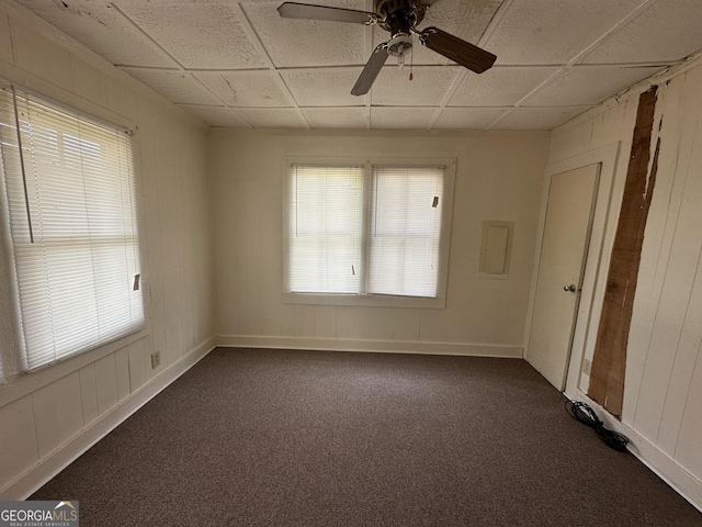
[[[72, 105], [65, 104], [60, 101], [52, 99], [43, 93], [27, 89], [24, 86], [9, 82], [4, 79], [0, 79], [0, 87], [5, 91], [16, 91], [21, 97], [33, 99], [39, 103], [44, 103], [55, 111], [63, 112], [71, 119], [89, 122], [94, 125], [110, 128], [115, 133], [123, 133], [129, 136], [129, 149], [131, 149], [131, 187], [133, 192], [133, 208], [132, 214], [134, 215], [134, 225], [136, 227], [134, 244], [138, 250], [137, 269], [139, 270], [139, 290], [141, 296], [141, 322], [135, 326], [131, 333], [121, 334], [112, 339], [105, 339], [104, 341], [97, 343], [95, 346], [78, 348], [72, 352], [64, 354], [59, 357], [54, 357], [53, 360], [37, 365], [33, 368], [29, 368], [26, 363], [26, 350], [25, 350], [25, 337], [23, 336], [23, 323], [21, 319], [20, 298], [16, 285], [16, 272], [15, 257], [14, 257], [14, 243], [10, 233], [10, 225], [5, 215], [9, 212], [2, 214], [0, 217], [0, 235], [2, 236], [3, 247], [7, 251], [3, 251], [2, 261], [0, 265], [7, 267], [8, 270], [4, 274], [0, 276], [0, 287], [4, 288], [5, 294], [0, 299], [0, 310], [4, 310], [5, 313], [11, 314], [14, 329], [12, 334], [5, 333], [2, 335], [2, 345], [12, 345], [12, 349], [9, 350], [0, 360], [5, 362], [8, 368], [4, 368], [4, 375], [0, 378], [0, 385], [12, 384], [18, 378], [26, 374], [32, 374], [37, 379], [36, 382], [43, 384], [41, 379], [46, 379], [50, 382], [52, 379], [63, 377], [67, 371], [73, 371], [70, 365], [81, 367], [101, 359], [118, 349], [125, 348], [133, 343], [144, 339], [151, 334], [151, 317], [150, 317], [150, 294], [148, 290], [148, 255], [146, 250], [146, 225], [144, 217], [143, 206], [143, 191], [141, 191], [141, 172], [140, 172], [140, 144], [137, 134], [134, 132], [136, 126], [134, 123], [126, 121], [123, 116], [113, 114], [110, 111], [100, 109], [98, 114], [84, 112]], [[100, 115], [100, 114], [104, 114]], [[121, 147], [120, 147], [121, 148]], [[2, 204], [7, 210], [8, 197], [5, 183], [0, 179], [0, 186], [2, 187]], [[67, 370], [66, 368], [70, 368]]]

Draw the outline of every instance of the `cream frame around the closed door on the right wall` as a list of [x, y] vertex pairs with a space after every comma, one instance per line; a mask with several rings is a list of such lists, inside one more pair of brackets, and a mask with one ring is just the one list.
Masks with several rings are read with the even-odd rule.
[[[546, 166], [542, 189], [539, 231], [532, 269], [529, 310], [524, 326], [524, 358], [529, 360], [529, 337], [533, 318], [534, 300], [536, 295], [536, 280], [543, 245], [544, 227], [551, 178], [562, 172], [576, 170], [590, 165], [600, 165], [599, 183], [596, 189], [592, 221], [589, 238], [586, 242], [586, 256], [584, 261], [582, 291], [575, 314], [573, 338], [569, 350], [568, 366], [566, 368], [565, 390], [566, 394], [575, 395], [578, 390], [584, 358], [589, 351], [592, 355], [597, 338], [597, 325], [602, 312], [604, 289], [607, 285], [607, 265], [610, 259], [612, 242], [616, 225], [616, 211], [610, 211], [613, 195], [614, 173], [620, 152], [620, 143], [611, 143], [593, 150], [580, 154]], [[611, 218], [614, 220], [611, 220]], [[589, 382], [589, 379], [588, 379]], [[571, 397], [573, 399], [573, 397]]]

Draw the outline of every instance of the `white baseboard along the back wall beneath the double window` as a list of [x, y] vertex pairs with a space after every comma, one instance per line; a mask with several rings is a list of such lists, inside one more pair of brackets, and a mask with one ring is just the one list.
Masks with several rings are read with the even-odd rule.
[[219, 347], [370, 351], [378, 354], [460, 355], [471, 357], [523, 358], [522, 346], [354, 338], [276, 337], [264, 335], [217, 335]]

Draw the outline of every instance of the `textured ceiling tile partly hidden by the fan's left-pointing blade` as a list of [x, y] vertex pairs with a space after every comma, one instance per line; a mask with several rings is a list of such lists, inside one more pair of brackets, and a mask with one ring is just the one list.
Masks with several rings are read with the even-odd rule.
[[[241, 2], [276, 67], [365, 64], [365, 25], [283, 19], [276, 11], [279, 5], [278, 2]], [[365, 11], [363, 0], [329, 1], [325, 5]]]

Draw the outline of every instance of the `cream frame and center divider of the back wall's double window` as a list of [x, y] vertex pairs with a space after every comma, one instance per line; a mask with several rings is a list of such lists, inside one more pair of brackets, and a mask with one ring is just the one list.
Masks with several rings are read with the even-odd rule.
[[[363, 227], [362, 227], [362, 276], [367, 277], [369, 225], [374, 166], [427, 167], [443, 166], [443, 203], [441, 235], [439, 244], [439, 270], [437, 277], [437, 296], [404, 296], [376, 293], [298, 293], [290, 291], [290, 228], [291, 228], [291, 168], [293, 165], [319, 166], [360, 166], [363, 167]], [[453, 199], [455, 187], [455, 158], [394, 158], [394, 157], [285, 157], [282, 161], [282, 301], [285, 304], [338, 305], [338, 306], [377, 306], [377, 307], [419, 307], [444, 309], [449, 278], [449, 255], [451, 247], [451, 225], [453, 218]]]

